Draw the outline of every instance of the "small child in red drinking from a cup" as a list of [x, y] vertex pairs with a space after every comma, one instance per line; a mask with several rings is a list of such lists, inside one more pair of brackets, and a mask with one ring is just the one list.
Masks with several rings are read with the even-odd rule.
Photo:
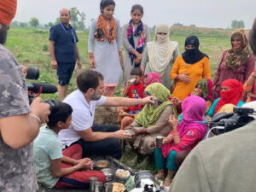
[[[144, 85], [143, 85], [143, 71], [140, 67], [134, 67], [131, 70], [130, 78], [125, 85], [125, 90], [123, 91], [123, 96], [128, 96], [133, 99], [141, 99], [144, 97]], [[130, 108], [118, 108], [118, 121], [121, 121], [120, 129], [124, 129], [125, 126], [130, 125], [137, 113], [143, 109], [143, 105], [131, 106]]]

